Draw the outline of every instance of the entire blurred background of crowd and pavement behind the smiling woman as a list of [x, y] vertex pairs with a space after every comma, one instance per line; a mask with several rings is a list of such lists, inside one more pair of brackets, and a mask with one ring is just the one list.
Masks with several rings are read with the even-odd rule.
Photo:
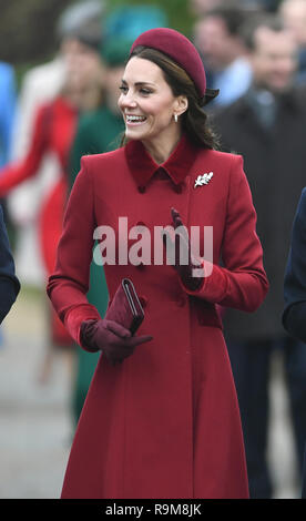
[[[306, 346], [285, 334], [282, 308], [306, 185], [306, 0], [1, 0], [0, 198], [22, 289], [0, 329], [0, 498], [60, 493], [98, 355], [72, 344], [45, 280], [81, 156], [119, 146], [124, 62], [154, 27], [194, 42], [220, 89], [208, 114], [220, 146], [244, 156], [271, 282], [254, 316], [224, 310], [251, 497], [299, 497]], [[105, 313], [94, 263], [89, 299]]]

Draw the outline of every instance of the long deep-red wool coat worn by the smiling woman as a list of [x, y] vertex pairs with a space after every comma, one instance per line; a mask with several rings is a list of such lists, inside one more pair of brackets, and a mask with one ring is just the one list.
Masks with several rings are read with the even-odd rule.
[[[197, 176], [213, 172], [208, 184]], [[62, 498], [247, 498], [239, 411], [215, 304], [255, 310], [267, 292], [242, 157], [185, 136], [157, 165], [141, 142], [82, 159], [48, 294], [72, 337], [99, 318], [86, 300], [93, 232], [171, 224], [213, 226], [212, 275], [186, 292], [172, 266], [106, 265], [112, 298], [130, 277], [153, 340], [114, 367], [100, 357], [76, 429]], [[202, 235], [202, 234], [201, 234]], [[131, 246], [135, 241], [130, 241]], [[153, 256], [153, 253], [152, 253]], [[222, 267], [220, 260], [222, 258]]]

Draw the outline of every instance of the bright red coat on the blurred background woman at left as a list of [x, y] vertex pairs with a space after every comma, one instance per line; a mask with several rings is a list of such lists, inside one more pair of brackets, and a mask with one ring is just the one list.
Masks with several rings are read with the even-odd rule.
[[[59, 176], [44, 197], [39, 215], [39, 243], [47, 276], [54, 269], [57, 245], [62, 232], [64, 204], [68, 194], [67, 167], [74, 136], [78, 110], [64, 95], [42, 104], [37, 112], [33, 135], [27, 156], [0, 171], [0, 196], [33, 177], [49, 152], [59, 163]], [[72, 340], [58, 316], [51, 314], [51, 336], [54, 346], [69, 346]]]

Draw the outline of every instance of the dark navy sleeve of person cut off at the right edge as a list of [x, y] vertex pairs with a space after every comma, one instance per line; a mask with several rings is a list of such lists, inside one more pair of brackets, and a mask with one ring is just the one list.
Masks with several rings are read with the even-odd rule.
[[283, 325], [306, 343], [306, 188], [293, 223], [292, 244], [284, 279]]

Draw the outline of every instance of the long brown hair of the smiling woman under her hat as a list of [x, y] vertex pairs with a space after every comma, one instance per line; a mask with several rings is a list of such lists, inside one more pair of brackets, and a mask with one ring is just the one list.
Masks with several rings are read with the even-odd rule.
[[[197, 146], [204, 149], [220, 149], [216, 134], [207, 124], [207, 114], [203, 110], [203, 99], [196, 91], [190, 75], [166, 54], [147, 47], [136, 47], [131, 58], [137, 57], [150, 60], [160, 67], [174, 96], [185, 95], [188, 100], [187, 110], [181, 115], [182, 129], [188, 139]], [[125, 143], [123, 136], [122, 145]]]

